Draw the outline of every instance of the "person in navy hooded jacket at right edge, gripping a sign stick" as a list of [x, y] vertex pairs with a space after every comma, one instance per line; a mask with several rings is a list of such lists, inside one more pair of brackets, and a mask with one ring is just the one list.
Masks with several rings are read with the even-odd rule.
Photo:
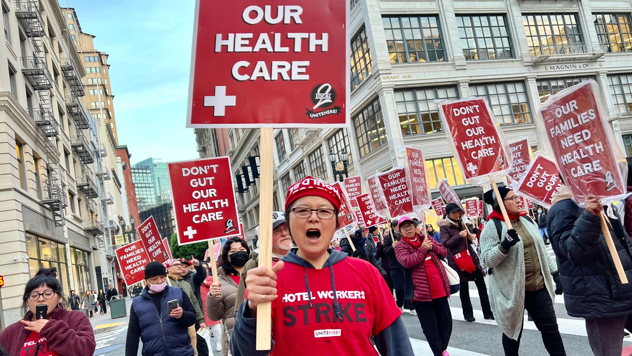
[[[621, 355], [623, 333], [632, 310], [632, 284], [621, 283], [601, 229], [604, 207], [588, 195], [584, 208], [571, 200], [566, 185], [553, 195], [547, 228], [557, 257], [564, 305], [569, 316], [586, 319], [588, 343], [595, 356]], [[607, 219], [608, 230], [623, 269], [632, 277], [632, 241], [617, 219]], [[533, 314], [533, 313], [532, 313]]]

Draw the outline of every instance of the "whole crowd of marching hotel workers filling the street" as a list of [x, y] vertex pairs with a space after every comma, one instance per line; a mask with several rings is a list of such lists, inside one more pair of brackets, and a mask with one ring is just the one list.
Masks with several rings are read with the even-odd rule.
[[[289, 187], [285, 211], [272, 214], [272, 268], [258, 267], [258, 250], [251, 252], [239, 237], [224, 243], [216, 281], [209, 273], [212, 261], [191, 256], [149, 262], [145, 288], [133, 291], [138, 296], [130, 309], [126, 355], [137, 355], [142, 341], [142, 354], [157, 356], [207, 356], [213, 349], [233, 356], [297, 350], [411, 356], [401, 319], [408, 309], [432, 354], [447, 356], [451, 295], [459, 292], [463, 317], [475, 321], [470, 282], [483, 317], [499, 326], [507, 356], [519, 354], [525, 310], [549, 355], [566, 355], [553, 308], [562, 292], [569, 316], [585, 319], [593, 354], [621, 355], [624, 329], [632, 324], [632, 285], [618, 278], [600, 215], [610, 216], [605, 228], [632, 278], [632, 199], [602, 206], [591, 195], [580, 207], [562, 187], [548, 214], [538, 208], [530, 217], [511, 188], [499, 187], [498, 193], [483, 196], [493, 207], [486, 223], [466, 221], [463, 207], [450, 203], [438, 230], [403, 216], [390, 228], [361, 228], [339, 239], [343, 193], [306, 177]], [[94, 294], [71, 291], [66, 298], [56, 269], [40, 269], [25, 288], [24, 318], [0, 333], [0, 345], [16, 356], [92, 355], [88, 318], [97, 305], [107, 312], [107, 300], [117, 294], [110, 286]], [[272, 350], [255, 347], [263, 302], [272, 304]]]

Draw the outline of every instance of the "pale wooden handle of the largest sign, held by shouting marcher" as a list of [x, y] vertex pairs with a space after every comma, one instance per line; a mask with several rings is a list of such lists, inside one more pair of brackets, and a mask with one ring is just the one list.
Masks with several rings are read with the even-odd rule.
[[[272, 268], [272, 185], [274, 184], [274, 141], [272, 128], [260, 130], [259, 175], [259, 267]], [[272, 302], [257, 305], [257, 350], [270, 350]]]

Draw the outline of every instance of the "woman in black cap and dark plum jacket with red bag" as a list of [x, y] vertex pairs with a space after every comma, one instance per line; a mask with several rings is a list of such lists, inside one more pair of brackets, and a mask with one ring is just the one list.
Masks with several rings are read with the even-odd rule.
[[476, 250], [472, 243], [476, 239], [478, 228], [472, 224], [463, 223], [465, 211], [456, 203], [449, 203], [446, 206], [446, 214], [443, 219], [437, 220], [441, 243], [447, 249], [447, 264], [459, 274], [461, 289], [459, 298], [461, 299], [461, 309], [465, 321], [476, 321], [474, 310], [470, 300], [470, 282], [473, 281], [478, 290], [480, 305], [483, 309], [483, 318], [494, 319], [494, 313], [489, 306], [487, 296], [487, 286], [485, 285], [485, 271], [480, 265]]

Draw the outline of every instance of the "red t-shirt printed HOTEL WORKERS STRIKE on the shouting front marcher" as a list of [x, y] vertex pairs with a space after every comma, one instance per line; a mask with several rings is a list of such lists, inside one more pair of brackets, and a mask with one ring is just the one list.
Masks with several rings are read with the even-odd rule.
[[[285, 262], [277, 274], [272, 302], [272, 356], [375, 355], [370, 336], [392, 324], [401, 311], [384, 278], [367, 261], [345, 258], [332, 266], [340, 321], [336, 317], [329, 267], [307, 269], [312, 295], [310, 308], [305, 267]], [[353, 347], [349, 347], [353, 345]], [[325, 351], [326, 350], [326, 351]]]

